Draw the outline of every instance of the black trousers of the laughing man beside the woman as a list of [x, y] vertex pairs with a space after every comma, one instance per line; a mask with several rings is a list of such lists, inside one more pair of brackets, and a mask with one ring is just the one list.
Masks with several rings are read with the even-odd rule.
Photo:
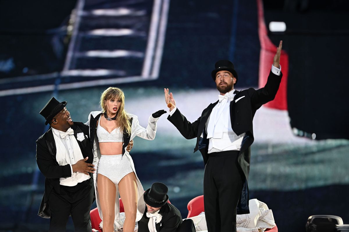
[[49, 195], [51, 210], [50, 232], [66, 231], [69, 215], [75, 232], [91, 232], [90, 209], [93, 201], [93, 179], [89, 178], [75, 186], [60, 185], [60, 194], [52, 190]]

